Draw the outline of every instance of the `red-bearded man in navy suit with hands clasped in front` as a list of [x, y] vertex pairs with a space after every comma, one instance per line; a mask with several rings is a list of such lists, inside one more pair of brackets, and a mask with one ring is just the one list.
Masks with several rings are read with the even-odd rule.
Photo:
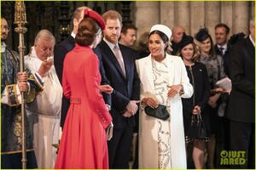
[[113, 138], [108, 141], [109, 168], [129, 168], [134, 114], [139, 102], [140, 82], [135, 59], [137, 53], [118, 43], [121, 31], [121, 15], [109, 10], [102, 14], [106, 22], [103, 41], [98, 45], [106, 76], [113, 87], [112, 109]]

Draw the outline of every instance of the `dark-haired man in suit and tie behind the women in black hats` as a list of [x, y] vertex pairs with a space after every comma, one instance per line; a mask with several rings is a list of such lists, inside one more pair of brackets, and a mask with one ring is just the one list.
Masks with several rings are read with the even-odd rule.
[[230, 47], [228, 45], [228, 37], [230, 34], [230, 27], [220, 23], [215, 26], [215, 40], [214, 45], [215, 53], [222, 56], [224, 60], [224, 71], [227, 76], [230, 76], [229, 71], [229, 58], [230, 58]]

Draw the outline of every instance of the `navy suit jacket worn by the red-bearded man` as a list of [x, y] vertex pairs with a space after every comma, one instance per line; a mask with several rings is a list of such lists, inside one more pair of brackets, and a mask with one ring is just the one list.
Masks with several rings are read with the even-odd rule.
[[102, 40], [98, 45], [102, 52], [102, 63], [106, 71], [106, 77], [113, 88], [112, 109], [113, 125], [116, 128], [125, 126], [134, 127], [135, 118], [122, 116], [130, 100], [139, 100], [140, 81], [137, 75], [135, 59], [138, 54], [131, 48], [119, 44], [119, 49], [124, 59], [125, 76], [122, 73], [118, 60], [109, 48], [108, 44]]

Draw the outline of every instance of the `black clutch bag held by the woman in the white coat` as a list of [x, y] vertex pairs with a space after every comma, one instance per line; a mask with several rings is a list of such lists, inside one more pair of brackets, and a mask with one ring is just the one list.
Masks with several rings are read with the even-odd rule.
[[146, 106], [144, 111], [148, 116], [153, 116], [163, 121], [166, 121], [170, 117], [170, 114], [166, 109], [166, 105], [158, 105], [156, 109]]

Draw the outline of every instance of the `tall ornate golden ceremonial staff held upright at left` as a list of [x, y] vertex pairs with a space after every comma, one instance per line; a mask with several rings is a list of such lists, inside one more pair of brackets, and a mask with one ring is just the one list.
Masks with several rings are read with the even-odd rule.
[[[15, 2], [15, 24], [18, 27], [15, 31], [19, 33], [19, 54], [20, 54], [20, 72], [24, 71], [24, 34], [26, 32], [26, 7], [23, 1]], [[25, 120], [25, 98], [24, 92], [21, 93], [21, 144], [22, 144], [22, 169], [26, 169], [26, 120]]]

